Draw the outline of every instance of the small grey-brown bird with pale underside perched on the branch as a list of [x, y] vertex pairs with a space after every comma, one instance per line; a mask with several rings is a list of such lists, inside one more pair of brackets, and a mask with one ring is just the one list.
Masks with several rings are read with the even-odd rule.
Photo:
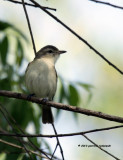
[[[60, 54], [65, 52], [52, 45], [47, 45], [37, 52], [25, 72], [26, 86], [31, 94], [49, 101], [53, 100], [57, 87], [55, 63]], [[42, 122], [53, 123], [53, 121], [51, 108], [44, 105], [42, 108]]]

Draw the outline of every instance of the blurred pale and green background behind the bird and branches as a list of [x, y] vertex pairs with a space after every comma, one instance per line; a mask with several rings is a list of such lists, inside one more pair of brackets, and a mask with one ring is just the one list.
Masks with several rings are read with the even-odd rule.
[[[50, 12], [123, 70], [123, 10], [89, 0], [37, 0], [37, 2], [42, 6], [56, 8], [56, 12]], [[118, 0], [117, 3], [113, 0], [107, 2], [123, 6], [122, 0]], [[56, 65], [59, 81], [54, 101], [122, 117], [123, 76], [46, 13], [34, 7], [27, 7], [27, 11], [37, 51], [48, 44], [67, 51]], [[23, 7], [1, 0], [0, 89], [28, 94], [24, 73], [33, 58], [34, 52]], [[0, 97], [0, 105], [6, 107], [9, 114], [27, 133], [54, 134], [50, 125], [42, 124], [38, 105], [5, 97]], [[118, 125], [115, 122], [63, 110], [53, 109], [53, 113], [59, 134]], [[6, 131], [13, 132], [2, 114], [0, 126]], [[111, 145], [103, 149], [119, 159], [123, 158], [123, 129], [91, 133], [87, 136], [99, 145]], [[12, 138], [1, 138], [13, 142]], [[51, 153], [54, 151], [55, 139], [33, 140], [44, 151]], [[90, 142], [82, 136], [60, 138], [60, 142], [66, 160], [112, 159], [96, 147], [78, 147], [90, 145]], [[0, 144], [0, 160], [28, 159], [24, 154], [6, 154], [10, 151], [5, 144]], [[61, 158], [59, 150], [55, 156]]]

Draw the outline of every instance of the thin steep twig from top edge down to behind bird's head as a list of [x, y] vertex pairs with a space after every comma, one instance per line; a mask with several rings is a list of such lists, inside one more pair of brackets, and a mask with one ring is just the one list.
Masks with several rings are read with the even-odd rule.
[[28, 17], [28, 13], [24, 4], [24, 0], [22, 0], [22, 4], [23, 4], [23, 9], [25, 12], [25, 16], [26, 16], [26, 20], [27, 20], [27, 24], [28, 24], [28, 28], [29, 28], [29, 32], [30, 32], [30, 36], [31, 36], [31, 40], [32, 40], [32, 44], [33, 44], [33, 50], [36, 56], [36, 47], [35, 47], [35, 42], [34, 42], [34, 38], [33, 38], [33, 34], [32, 34], [32, 29], [31, 29], [31, 25], [30, 25], [30, 21], [29, 21], [29, 17]]

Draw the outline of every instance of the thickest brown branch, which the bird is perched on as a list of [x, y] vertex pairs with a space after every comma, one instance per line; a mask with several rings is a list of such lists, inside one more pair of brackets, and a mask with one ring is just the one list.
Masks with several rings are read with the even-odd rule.
[[31, 97], [29, 99], [28, 95], [25, 95], [22, 93], [0, 90], [0, 96], [9, 97], [9, 98], [16, 98], [16, 99], [23, 99], [23, 100], [34, 102], [37, 104], [44, 104], [44, 105], [47, 105], [48, 107], [54, 107], [57, 109], [63, 109], [63, 110], [72, 111], [72, 112], [76, 112], [76, 113], [80, 113], [80, 114], [84, 114], [84, 115], [88, 115], [88, 116], [94, 116], [94, 117], [106, 119], [109, 121], [123, 123], [123, 117], [113, 116], [113, 115], [105, 114], [102, 112], [92, 111], [92, 110], [85, 109], [85, 108], [79, 108], [76, 106], [65, 105], [62, 103], [55, 103], [52, 101], [44, 102], [44, 101], [42, 101], [42, 99], [37, 98], [37, 97]]

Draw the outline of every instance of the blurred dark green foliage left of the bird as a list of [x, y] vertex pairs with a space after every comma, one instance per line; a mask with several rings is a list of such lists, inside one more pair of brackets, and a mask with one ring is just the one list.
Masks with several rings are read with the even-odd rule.
[[[20, 74], [19, 70], [22, 68], [23, 63], [27, 61], [24, 57], [24, 43], [29, 45], [29, 41], [19, 29], [7, 22], [0, 21], [0, 35], [0, 89], [27, 93], [27, 90], [24, 87], [24, 73]], [[14, 46], [14, 52], [11, 52], [11, 46]], [[11, 59], [13, 54], [14, 60]], [[23, 130], [27, 128], [30, 122], [33, 122], [35, 126], [35, 132], [39, 133], [41, 112], [35, 114], [34, 106], [31, 103], [19, 101], [17, 99], [10, 100], [8, 98], [0, 97], [0, 107], [7, 108], [9, 114], [5, 114], [9, 121], [11, 121], [11, 117], [9, 116], [11, 115]], [[2, 128], [14, 133], [20, 132], [16, 125], [14, 125], [12, 128], [10, 127], [2, 113], [0, 114], [0, 123], [0, 129]], [[18, 141], [14, 138], [1, 137], [1, 139], [18, 144]], [[34, 144], [40, 146], [40, 143], [37, 141], [37, 139], [33, 139], [33, 141]], [[19, 145], [22, 146], [20, 143]], [[21, 153], [21, 150], [1, 144], [0, 152], [8, 153], [5, 156], [6, 160], [14, 160], [19, 157], [19, 154], [16, 152]], [[26, 155], [21, 156], [21, 159], [22, 158], [29, 159]]]

